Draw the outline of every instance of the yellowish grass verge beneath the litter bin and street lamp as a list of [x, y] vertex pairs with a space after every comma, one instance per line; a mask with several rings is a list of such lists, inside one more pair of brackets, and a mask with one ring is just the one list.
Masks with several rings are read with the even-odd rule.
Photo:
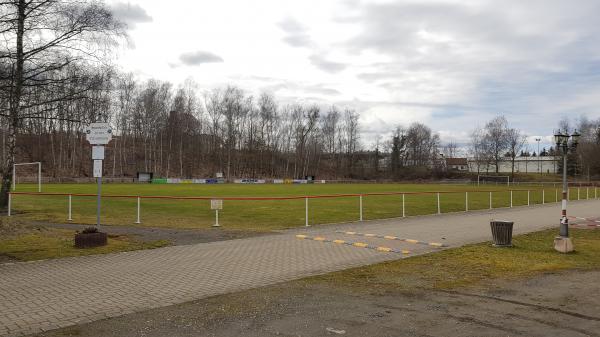
[[571, 254], [554, 251], [555, 236], [556, 230], [546, 230], [516, 236], [513, 248], [494, 248], [489, 242], [473, 244], [311, 277], [301, 282], [386, 292], [415, 288], [450, 289], [568, 269], [600, 269], [600, 230], [572, 229], [576, 251]]

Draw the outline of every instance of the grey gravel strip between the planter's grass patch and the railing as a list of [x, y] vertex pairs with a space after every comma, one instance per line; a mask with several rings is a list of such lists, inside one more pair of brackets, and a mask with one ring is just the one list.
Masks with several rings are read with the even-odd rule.
[[[54, 224], [38, 223], [43, 226], [62, 228], [81, 231], [89, 225], [80, 224]], [[173, 245], [190, 245], [195, 243], [205, 243], [214, 241], [242, 239], [252, 236], [259, 236], [269, 233], [227, 230], [221, 228], [211, 229], [168, 229], [156, 227], [137, 227], [137, 226], [102, 226], [102, 231], [109, 235], [127, 235], [132, 236], [143, 242], [152, 242], [157, 240], [167, 240]]]

